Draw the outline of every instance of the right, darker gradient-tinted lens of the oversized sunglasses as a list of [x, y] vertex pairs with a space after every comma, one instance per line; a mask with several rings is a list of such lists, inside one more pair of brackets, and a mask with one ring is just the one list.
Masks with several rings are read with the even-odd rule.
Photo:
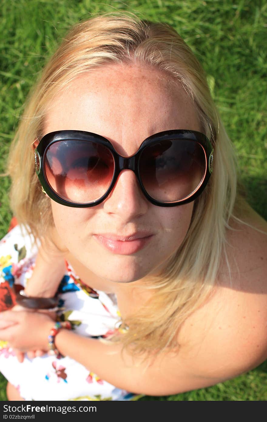
[[199, 143], [188, 139], [154, 143], [143, 150], [139, 171], [148, 195], [162, 202], [179, 201], [202, 183], [205, 152]]

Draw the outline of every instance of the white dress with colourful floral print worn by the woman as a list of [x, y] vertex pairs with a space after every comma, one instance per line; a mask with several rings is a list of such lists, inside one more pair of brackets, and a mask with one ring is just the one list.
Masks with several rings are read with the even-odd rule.
[[[25, 227], [16, 225], [0, 241], [0, 311], [11, 308], [16, 293], [32, 275], [37, 246]], [[83, 284], [66, 262], [59, 285], [59, 319], [70, 321], [80, 335], [105, 338], [118, 329], [116, 297]], [[0, 372], [25, 400], [137, 400], [140, 396], [120, 390], [100, 379], [80, 363], [48, 354], [19, 363], [7, 342], [0, 341]]]

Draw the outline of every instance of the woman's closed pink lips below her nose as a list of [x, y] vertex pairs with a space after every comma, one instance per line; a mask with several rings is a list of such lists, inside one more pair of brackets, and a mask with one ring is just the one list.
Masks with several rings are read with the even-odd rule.
[[93, 238], [113, 254], [131, 255], [143, 249], [153, 237], [148, 233], [134, 233], [131, 236], [118, 236], [110, 233], [93, 235]]

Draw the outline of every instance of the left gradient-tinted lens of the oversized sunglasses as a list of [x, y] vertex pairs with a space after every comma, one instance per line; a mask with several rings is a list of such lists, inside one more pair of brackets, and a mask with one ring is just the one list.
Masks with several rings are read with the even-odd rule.
[[46, 152], [46, 179], [65, 200], [90, 203], [101, 198], [111, 184], [113, 173], [113, 156], [99, 143], [57, 141]]

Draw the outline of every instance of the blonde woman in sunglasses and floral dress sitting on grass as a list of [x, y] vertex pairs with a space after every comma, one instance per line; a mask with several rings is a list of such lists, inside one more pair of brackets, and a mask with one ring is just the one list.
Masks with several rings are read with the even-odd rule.
[[[28, 296], [54, 296], [65, 261], [69, 278], [61, 326], [42, 311], [0, 315], [9, 400], [170, 395], [263, 362], [266, 222], [236, 191], [205, 75], [175, 30], [128, 16], [77, 25], [25, 117], [11, 205], [41, 263], [32, 275], [36, 249], [19, 227], [2, 250], [12, 261], [27, 243], [12, 266], [16, 292], [30, 279]], [[17, 362], [16, 349], [59, 360]]]

